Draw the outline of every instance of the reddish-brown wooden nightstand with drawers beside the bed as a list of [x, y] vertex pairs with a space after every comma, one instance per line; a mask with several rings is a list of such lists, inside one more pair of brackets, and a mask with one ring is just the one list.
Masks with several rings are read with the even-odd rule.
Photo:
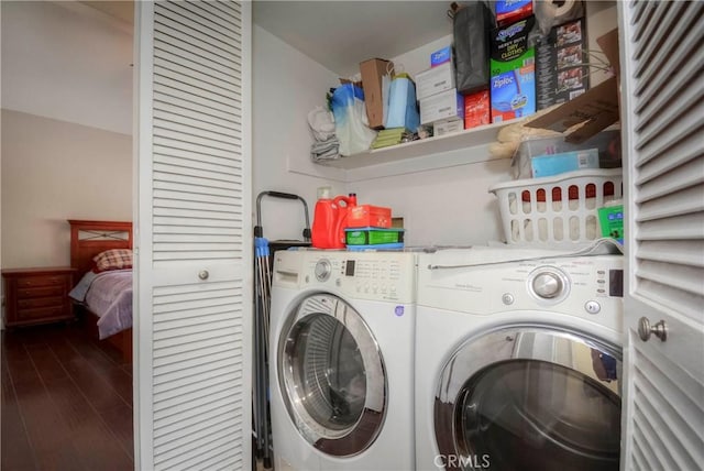
[[74, 286], [75, 272], [68, 266], [3, 270], [4, 325], [15, 327], [73, 319], [68, 292]]

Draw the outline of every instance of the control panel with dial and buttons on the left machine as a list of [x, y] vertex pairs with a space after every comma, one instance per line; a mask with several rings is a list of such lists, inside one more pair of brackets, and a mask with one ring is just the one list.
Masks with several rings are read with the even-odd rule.
[[416, 254], [409, 252], [308, 251], [302, 286], [373, 300], [414, 303]]

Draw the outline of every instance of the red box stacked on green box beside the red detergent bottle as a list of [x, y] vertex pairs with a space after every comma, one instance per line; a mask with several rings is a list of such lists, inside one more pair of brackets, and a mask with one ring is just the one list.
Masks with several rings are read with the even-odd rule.
[[348, 207], [348, 250], [403, 249], [404, 229], [392, 228], [392, 210], [382, 206]]

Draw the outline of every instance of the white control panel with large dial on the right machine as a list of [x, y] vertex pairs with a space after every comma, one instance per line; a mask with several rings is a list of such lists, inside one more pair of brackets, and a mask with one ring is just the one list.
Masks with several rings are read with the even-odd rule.
[[477, 315], [542, 310], [590, 319], [623, 313], [622, 255], [482, 261], [473, 265], [465, 263], [460, 252], [439, 253], [442, 256], [436, 259], [421, 254], [418, 261], [419, 305]]

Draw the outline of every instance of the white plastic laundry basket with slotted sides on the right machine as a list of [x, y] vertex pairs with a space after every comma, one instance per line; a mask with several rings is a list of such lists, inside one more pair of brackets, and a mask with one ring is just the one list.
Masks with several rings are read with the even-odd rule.
[[584, 169], [490, 187], [507, 243], [574, 247], [601, 238], [597, 209], [620, 199], [620, 168]]

